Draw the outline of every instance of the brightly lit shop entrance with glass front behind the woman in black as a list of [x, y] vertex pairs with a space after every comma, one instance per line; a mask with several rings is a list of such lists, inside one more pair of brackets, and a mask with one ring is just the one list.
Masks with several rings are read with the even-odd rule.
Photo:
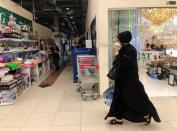
[[146, 90], [154, 88], [152, 96], [177, 96], [177, 8], [109, 10], [109, 68], [112, 44], [126, 30], [133, 35]]

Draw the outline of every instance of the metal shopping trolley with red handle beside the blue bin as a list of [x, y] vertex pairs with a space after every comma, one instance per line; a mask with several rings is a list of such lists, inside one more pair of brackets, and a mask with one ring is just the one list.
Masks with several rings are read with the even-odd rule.
[[98, 93], [98, 65], [93, 55], [80, 55], [77, 57], [78, 64], [78, 88], [81, 98], [85, 101], [87, 97], [97, 99]]

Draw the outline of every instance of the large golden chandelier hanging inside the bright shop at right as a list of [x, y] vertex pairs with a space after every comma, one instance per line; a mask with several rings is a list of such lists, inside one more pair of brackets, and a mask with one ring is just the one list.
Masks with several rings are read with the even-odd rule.
[[150, 20], [155, 25], [160, 25], [177, 13], [176, 9], [173, 8], [151, 8], [143, 9], [142, 16]]

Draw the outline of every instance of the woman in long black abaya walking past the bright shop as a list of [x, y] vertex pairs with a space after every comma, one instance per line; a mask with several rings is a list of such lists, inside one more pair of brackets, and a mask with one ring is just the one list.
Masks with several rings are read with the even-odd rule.
[[118, 35], [118, 42], [113, 46], [116, 55], [113, 64], [118, 64], [119, 69], [115, 80], [113, 101], [105, 120], [108, 117], [114, 117], [110, 124], [123, 124], [123, 119], [144, 122], [146, 125], [150, 124], [151, 118], [160, 122], [154, 105], [139, 81], [137, 51], [129, 44], [131, 39], [131, 32], [122, 32]]

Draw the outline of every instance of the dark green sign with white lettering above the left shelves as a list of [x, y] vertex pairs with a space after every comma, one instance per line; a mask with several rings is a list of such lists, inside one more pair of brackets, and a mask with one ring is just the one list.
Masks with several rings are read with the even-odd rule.
[[32, 29], [32, 21], [28, 20], [12, 11], [9, 11], [3, 7], [0, 7], [0, 23], [3, 25], [7, 25], [9, 21], [9, 16], [13, 15], [15, 17], [15, 21], [18, 25], [27, 25]]

